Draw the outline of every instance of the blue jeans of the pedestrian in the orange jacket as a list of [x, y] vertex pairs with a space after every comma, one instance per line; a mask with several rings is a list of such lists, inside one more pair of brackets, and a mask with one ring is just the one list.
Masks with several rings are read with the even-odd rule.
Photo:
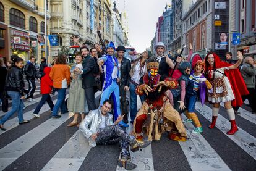
[[56, 88], [56, 91], [58, 92], [58, 98], [57, 102], [53, 107], [53, 116], [58, 115], [59, 108], [61, 107], [61, 112], [66, 113], [67, 107], [65, 105], [65, 97], [66, 97], [66, 88]]

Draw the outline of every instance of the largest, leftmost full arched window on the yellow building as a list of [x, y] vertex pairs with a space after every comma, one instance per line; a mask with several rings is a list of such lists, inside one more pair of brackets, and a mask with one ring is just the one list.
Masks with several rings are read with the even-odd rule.
[[10, 24], [25, 29], [25, 15], [20, 10], [11, 8]]

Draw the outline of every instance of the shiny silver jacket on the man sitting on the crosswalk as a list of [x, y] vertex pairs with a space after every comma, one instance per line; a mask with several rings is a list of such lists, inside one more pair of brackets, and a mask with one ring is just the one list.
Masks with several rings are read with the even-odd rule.
[[[102, 119], [101, 109], [95, 109], [89, 112], [89, 114], [85, 117], [85, 119], [80, 123], [80, 130], [83, 135], [89, 140], [91, 140], [90, 136], [93, 133], [97, 133], [100, 130], [100, 123]], [[106, 115], [106, 127], [113, 125], [113, 115]], [[90, 128], [88, 126], [90, 125]]]

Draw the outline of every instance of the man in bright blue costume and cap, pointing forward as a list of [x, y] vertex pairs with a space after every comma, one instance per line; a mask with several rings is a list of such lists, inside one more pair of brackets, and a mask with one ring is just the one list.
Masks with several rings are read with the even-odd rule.
[[[104, 83], [103, 83], [103, 91], [101, 94], [100, 106], [103, 105], [103, 102], [106, 99], [111, 98], [113, 99], [114, 104], [114, 120], [117, 120], [117, 117], [121, 115], [120, 111], [120, 99], [119, 99], [119, 86], [117, 82], [120, 81], [119, 79], [119, 71], [118, 71], [118, 60], [114, 57], [114, 50], [115, 46], [114, 43], [111, 41], [107, 45], [107, 54], [100, 57], [99, 65], [103, 65], [104, 70]], [[119, 122], [119, 125], [123, 127], [128, 127], [126, 123], [123, 121]]]

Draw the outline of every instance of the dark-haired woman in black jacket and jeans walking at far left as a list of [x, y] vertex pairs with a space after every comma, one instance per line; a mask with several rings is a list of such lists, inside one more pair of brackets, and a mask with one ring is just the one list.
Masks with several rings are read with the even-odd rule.
[[2, 117], [0, 120], [0, 128], [5, 131], [4, 123], [13, 115], [15, 112], [18, 113], [19, 124], [28, 123], [29, 120], [23, 119], [23, 99], [24, 96], [24, 80], [22, 74], [23, 62], [24, 60], [18, 56], [12, 57], [12, 62], [14, 65], [7, 72], [6, 76], [6, 91], [7, 94], [12, 98], [12, 108], [9, 112]]

